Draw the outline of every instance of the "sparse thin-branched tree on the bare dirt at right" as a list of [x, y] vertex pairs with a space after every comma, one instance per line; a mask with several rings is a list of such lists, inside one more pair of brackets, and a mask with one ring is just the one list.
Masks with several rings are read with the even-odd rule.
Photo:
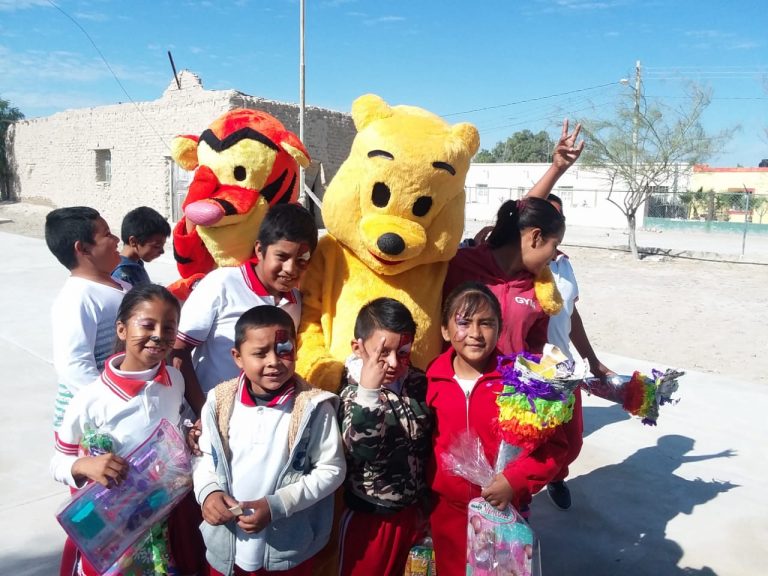
[[587, 141], [582, 162], [608, 179], [608, 200], [627, 219], [629, 247], [635, 258], [640, 257], [637, 211], [655, 187], [665, 186], [679, 165], [701, 163], [719, 152], [735, 131], [708, 135], [700, 119], [711, 93], [691, 85], [688, 96], [687, 104], [671, 108], [648, 104], [637, 91], [634, 98], [622, 100], [613, 118], [581, 121]]

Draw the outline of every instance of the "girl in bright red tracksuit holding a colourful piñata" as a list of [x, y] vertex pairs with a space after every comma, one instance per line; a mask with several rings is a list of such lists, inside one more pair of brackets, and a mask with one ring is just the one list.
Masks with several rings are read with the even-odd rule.
[[435, 415], [433, 453], [427, 472], [436, 496], [430, 516], [437, 573], [464, 576], [467, 506], [482, 496], [492, 506], [508, 504], [527, 517], [533, 494], [550, 482], [567, 452], [562, 429], [543, 446], [523, 452], [488, 486], [477, 486], [450, 473], [442, 455], [456, 438], [470, 431], [495, 463], [501, 435], [496, 398], [503, 389], [496, 366], [502, 310], [491, 290], [477, 282], [456, 287], [443, 305], [443, 338], [450, 344], [427, 369], [427, 405]]

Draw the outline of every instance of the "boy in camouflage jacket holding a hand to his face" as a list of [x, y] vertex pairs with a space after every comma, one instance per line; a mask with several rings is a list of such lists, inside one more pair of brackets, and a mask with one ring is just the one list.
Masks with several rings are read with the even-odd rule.
[[432, 415], [427, 380], [410, 363], [416, 324], [392, 298], [363, 306], [341, 385], [347, 457], [341, 576], [402, 574], [423, 537]]

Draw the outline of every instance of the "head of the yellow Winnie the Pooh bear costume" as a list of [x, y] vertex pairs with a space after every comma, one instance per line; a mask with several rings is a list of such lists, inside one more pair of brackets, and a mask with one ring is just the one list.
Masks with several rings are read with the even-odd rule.
[[477, 129], [373, 94], [355, 100], [352, 118], [358, 134], [323, 200], [328, 232], [379, 275], [450, 260]]

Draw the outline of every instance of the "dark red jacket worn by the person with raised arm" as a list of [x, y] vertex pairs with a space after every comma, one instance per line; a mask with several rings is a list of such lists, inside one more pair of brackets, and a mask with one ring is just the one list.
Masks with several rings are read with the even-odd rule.
[[504, 354], [527, 351], [541, 354], [547, 343], [549, 316], [541, 309], [533, 289], [533, 276], [519, 272], [507, 276], [487, 244], [462, 248], [448, 264], [443, 300], [462, 282], [485, 284], [501, 304], [498, 347]]

